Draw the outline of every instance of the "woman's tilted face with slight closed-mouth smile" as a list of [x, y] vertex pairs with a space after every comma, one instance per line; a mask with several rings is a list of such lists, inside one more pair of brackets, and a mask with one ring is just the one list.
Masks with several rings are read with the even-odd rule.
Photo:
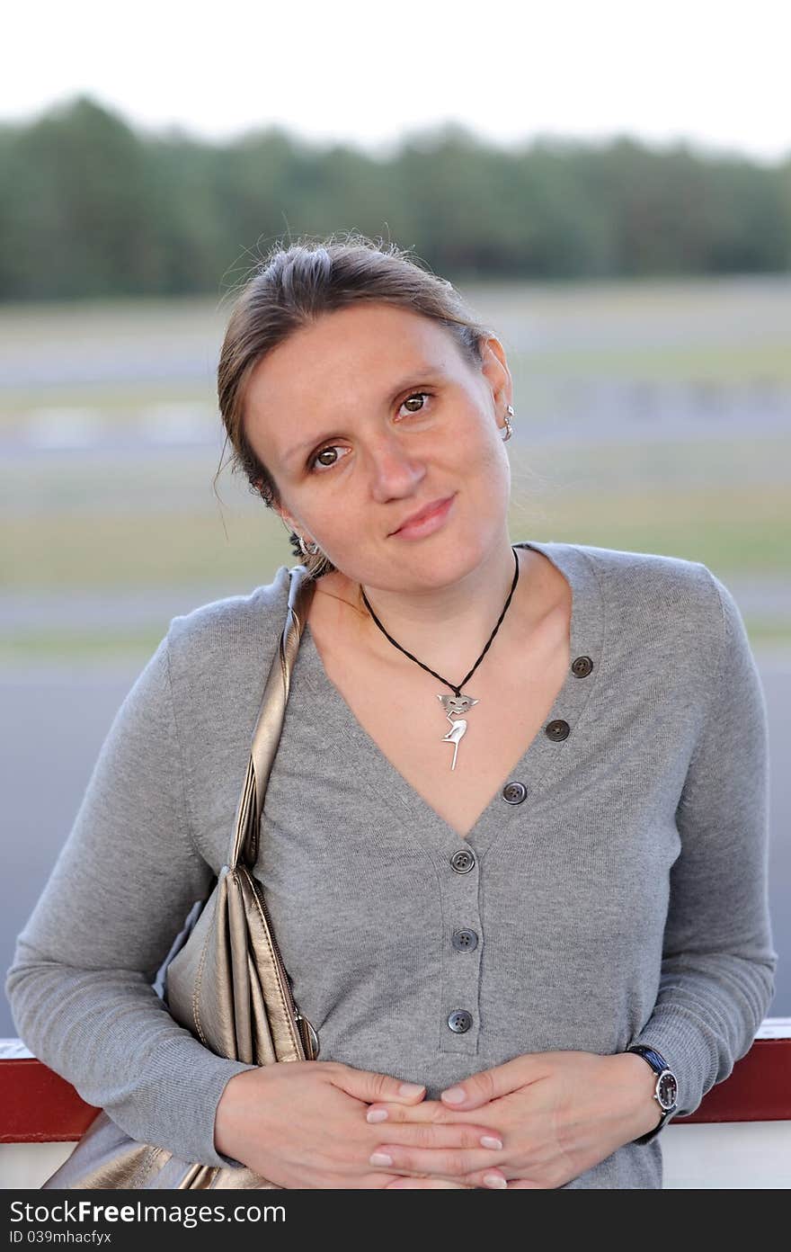
[[511, 398], [499, 341], [478, 367], [438, 322], [359, 303], [259, 362], [244, 424], [289, 527], [354, 581], [422, 590], [463, 577], [507, 536]]

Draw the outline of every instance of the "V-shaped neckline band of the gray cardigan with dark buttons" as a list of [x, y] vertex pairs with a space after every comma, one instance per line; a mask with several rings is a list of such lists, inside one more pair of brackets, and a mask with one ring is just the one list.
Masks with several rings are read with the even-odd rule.
[[[521, 805], [506, 803], [503, 790], [508, 782], [521, 782], [524, 786], [524, 803], [532, 810], [557, 779], [573, 769], [576, 747], [583, 732], [584, 714], [592, 705], [591, 696], [597, 686], [602, 667], [605, 605], [592, 561], [578, 545], [573, 543], [538, 543], [531, 540], [513, 546], [542, 552], [571, 586], [569, 666], [549, 714], [511, 772], [501, 780], [467, 835], [459, 835], [428, 800], [419, 791], [416, 791], [408, 779], [393, 765], [362, 722], [358, 721], [352, 707], [324, 669], [309, 622], [305, 623], [299, 649], [298, 665], [302, 671], [299, 681], [304, 681], [317, 697], [327, 701], [333, 725], [364, 754], [373, 770], [373, 776], [382, 779], [383, 794], [398, 796], [401, 801], [398, 810], [403, 813], [404, 823], [413, 829], [434, 831], [449, 854], [466, 846], [471, 846], [479, 855], [483, 854], [506, 826], [508, 819], [516, 820]], [[574, 671], [574, 661], [579, 657], [589, 659], [592, 662], [589, 672], [586, 672], [588, 671], [587, 665], [577, 666], [577, 671]], [[547, 735], [546, 727], [557, 721], [568, 724], [569, 732], [566, 739], [557, 740]]]

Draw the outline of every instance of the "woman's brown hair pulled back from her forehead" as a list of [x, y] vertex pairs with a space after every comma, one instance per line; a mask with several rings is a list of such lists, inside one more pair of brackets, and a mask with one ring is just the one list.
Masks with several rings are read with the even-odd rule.
[[[482, 364], [482, 344], [489, 329], [474, 318], [448, 279], [423, 269], [406, 249], [358, 233], [343, 239], [334, 234], [322, 239], [302, 235], [288, 248], [275, 244], [235, 295], [217, 373], [227, 432], [223, 454], [230, 442], [232, 472], [242, 471], [270, 508], [280, 503], [278, 488], [244, 428], [250, 374], [295, 331], [359, 300], [401, 304], [433, 318], [448, 329], [471, 362]], [[290, 538], [294, 553], [313, 577], [334, 568], [323, 552], [305, 557], [294, 532]]]

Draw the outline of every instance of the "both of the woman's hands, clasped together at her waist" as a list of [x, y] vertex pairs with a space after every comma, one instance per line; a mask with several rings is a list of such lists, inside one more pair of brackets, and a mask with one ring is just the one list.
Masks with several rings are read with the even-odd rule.
[[339, 1062], [263, 1065], [227, 1084], [215, 1147], [285, 1188], [561, 1187], [657, 1124], [653, 1083], [633, 1053], [528, 1053], [438, 1101]]

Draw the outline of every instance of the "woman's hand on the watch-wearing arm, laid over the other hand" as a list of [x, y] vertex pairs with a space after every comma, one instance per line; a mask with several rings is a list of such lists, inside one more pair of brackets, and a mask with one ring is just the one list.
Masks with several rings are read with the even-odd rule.
[[372, 1104], [382, 1142], [370, 1164], [404, 1174], [387, 1189], [561, 1187], [658, 1123], [652, 1092], [651, 1069], [631, 1053], [529, 1053], [439, 1101]]

